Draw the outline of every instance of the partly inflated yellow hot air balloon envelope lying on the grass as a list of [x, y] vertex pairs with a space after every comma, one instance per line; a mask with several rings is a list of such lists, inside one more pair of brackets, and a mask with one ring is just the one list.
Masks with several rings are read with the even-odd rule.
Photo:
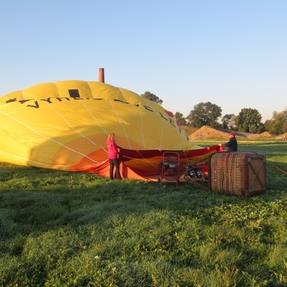
[[150, 178], [160, 154], [147, 151], [198, 148], [162, 106], [95, 81], [44, 83], [2, 96], [0, 122], [0, 161], [19, 165], [107, 176], [106, 138], [115, 133], [126, 177]]

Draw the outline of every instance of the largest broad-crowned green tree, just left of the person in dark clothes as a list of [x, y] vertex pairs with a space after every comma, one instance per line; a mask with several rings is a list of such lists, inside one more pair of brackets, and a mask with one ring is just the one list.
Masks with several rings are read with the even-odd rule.
[[188, 123], [193, 127], [202, 127], [209, 125], [218, 127], [217, 119], [221, 116], [221, 107], [212, 104], [211, 102], [199, 103], [194, 106], [193, 110], [187, 117]]

